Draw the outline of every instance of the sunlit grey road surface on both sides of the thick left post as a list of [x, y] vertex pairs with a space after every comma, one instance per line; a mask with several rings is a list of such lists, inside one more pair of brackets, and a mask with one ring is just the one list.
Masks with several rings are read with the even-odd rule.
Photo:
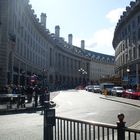
[[[116, 124], [118, 113], [125, 114], [127, 126], [140, 121], [140, 109], [100, 98], [101, 94], [86, 91], [61, 91], [56, 102], [56, 115]], [[135, 114], [135, 115], [134, 115]], [[42, 140], [43, 115], [40, 112], [0, 116], [0, 140]]]

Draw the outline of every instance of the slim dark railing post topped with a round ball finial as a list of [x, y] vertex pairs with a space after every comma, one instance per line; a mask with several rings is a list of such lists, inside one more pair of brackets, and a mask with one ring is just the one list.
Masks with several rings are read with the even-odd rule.
[[125, 140], [125, 122], [123, 121], [124, 117], [125, 116], [123, 113], [118, 114], [119, 121], [117, 122], [117, 140]]

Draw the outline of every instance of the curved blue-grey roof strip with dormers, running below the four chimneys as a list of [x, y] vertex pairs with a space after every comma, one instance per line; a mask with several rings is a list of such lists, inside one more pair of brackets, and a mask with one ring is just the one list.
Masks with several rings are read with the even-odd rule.
[[[67, 42], [65, 42], [63, 40], [63, 38], [60, 37], [56, 37], [55, 34], [51, 34], [49, 32], [48, 29], [45, 29], [45, 27], [39, 22], [39, 19], [37, 18], [37, 15], [35, 15], [34, 10], [32, 9], [32, 6], [28, 3], [27, 0], [27, 4], [26, 4], [26, 12], [31, 20], [31, 22], [34, 23], [34, 26], [36, 27], [36, 29], [40, 32], [40, 34], [42, 34], [42, 36], [48, 41], [50, 42], [54, 47], [61, 49], [62, 51], [65, 51], [73, 56], [77, 56], [80, 58], [83, 58], [85, 60], [91, 60], [92, 55], [96, 55], [96, 58], [94, 58], [97, 61], [101, 61], [98, 58], [102, 58], [101, 56], [104, 56], [104, 60], [105, 62], [114, 62], [112, 61], [112, 57], [110, 55], [104, 55], [104, 54], [100, 54], [100, 53], [96, 53], [96, 52], [92, 52], [92, 51], [88, 51], [88, 50], [82, 50], [79, 47], [76, 47], [74, 45], [69, 45]], [[91, 54], [91, 56], [89, 56], [88, 54]], [[109, 59], [109, 61], [107, 60]]]

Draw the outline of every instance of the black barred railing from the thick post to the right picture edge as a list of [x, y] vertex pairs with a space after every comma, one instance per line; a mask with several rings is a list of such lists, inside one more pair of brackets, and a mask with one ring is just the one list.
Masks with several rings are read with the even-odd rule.
[[140, 140], [140, 130], [56, 117], [53, 140]]

